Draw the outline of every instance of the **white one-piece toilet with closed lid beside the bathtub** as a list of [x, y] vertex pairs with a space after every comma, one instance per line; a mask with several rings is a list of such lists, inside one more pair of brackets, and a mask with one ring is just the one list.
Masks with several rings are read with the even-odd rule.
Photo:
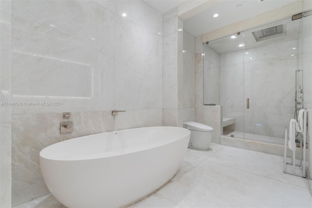
[[214, 129], [209, 125], [196, 122], [184, 122], [183, 128], [191, 131], [189, 148], [208, 150], [213, 136]]

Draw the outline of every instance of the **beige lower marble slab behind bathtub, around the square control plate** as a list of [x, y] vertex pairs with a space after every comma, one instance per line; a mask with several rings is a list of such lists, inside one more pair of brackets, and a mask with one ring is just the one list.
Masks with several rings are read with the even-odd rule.
[[41, 176], [39, 152], [54, 143], [114, 130], [111, 111], [74, 112], [74, 131], [60, 134], [62, 113], [12, 115], [12, 205], [49, 193]]

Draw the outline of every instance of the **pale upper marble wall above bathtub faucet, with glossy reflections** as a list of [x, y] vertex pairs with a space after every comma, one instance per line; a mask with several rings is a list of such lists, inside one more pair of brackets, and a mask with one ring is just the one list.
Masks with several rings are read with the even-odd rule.
[[[13, 113], [162, 107], [162, 16], [146, 3], [17, 0], [12, 18], [14, 101], [62, 102], [16, 107]], [[23, 62], [34, 77], [20, 83]], [[37, 73], [31, 64], [44, 70]], [[62, 73], [60, 66], [66, 68]], [[54, 91], [45, 76], [58, 80]]]

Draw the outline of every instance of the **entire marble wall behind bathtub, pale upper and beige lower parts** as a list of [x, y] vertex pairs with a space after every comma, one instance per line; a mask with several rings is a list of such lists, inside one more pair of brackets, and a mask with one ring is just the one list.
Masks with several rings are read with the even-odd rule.
[[[22, 104], [12, 107], [12, 206], [49, 193], [39, 170], [43, 147], [162, 125], [162, 25], [141, 0], [12, 2], [12, 99]], [[176, 29], [176, 50], [179, 39]], [[113, 109], [126, 112], [114, 118]], [[59, 134], [62, 112], [71, 112], [73, 133]]]

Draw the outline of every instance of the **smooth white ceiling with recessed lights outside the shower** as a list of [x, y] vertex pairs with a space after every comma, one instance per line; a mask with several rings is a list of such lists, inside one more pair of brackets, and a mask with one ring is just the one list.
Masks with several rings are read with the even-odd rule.
[[[186, 0], [145, 0], [160, 13], [175, 8]], [[225, 27], [238, 21], [252, 18], [290, 4], [297, 0], [220, 0], [216, 6], [207, 9], [183, 22], [183, 29], [194, 37]], [[237, 6], [241, 4], [240, 6]], [[219, 16], [214, 18], [213, 15]]]

